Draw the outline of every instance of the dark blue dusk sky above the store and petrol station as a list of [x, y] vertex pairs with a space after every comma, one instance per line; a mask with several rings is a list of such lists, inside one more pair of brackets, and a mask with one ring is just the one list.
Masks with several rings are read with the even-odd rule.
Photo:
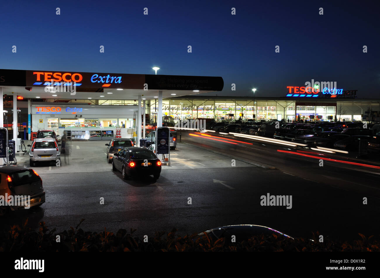
[[285, 96], [314, 79], [380, 98], [375, 1], [36, 2], [0, 2], [0, 68], [153, 74], [159, 66], [158, 74], [221, 76], [224, 96], [254, 87], [256, 96]]

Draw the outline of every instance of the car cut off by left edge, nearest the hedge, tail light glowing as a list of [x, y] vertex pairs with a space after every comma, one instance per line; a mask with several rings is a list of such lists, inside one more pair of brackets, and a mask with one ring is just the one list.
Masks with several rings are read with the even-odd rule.
[[[24, 202], [24, 206], [17, 204], [16, 206], [0, 206], [0, 216], [5, 215], [9, 210], [25, 209], [25, 206], [35, 207], [45, 203], [45, 191], [42, 187], [41, 177], [33, 169], [21, 166], [0, 166], [0, 195], [19, 196], [17, 199]], [[25, 199], [21, 196], [30, 196]], [[25, 204], [27, 201], [27, 204]], [[29, 202], [29, 203], [28, 203]], [[14, 204], [15, 205], [15, 204]]]

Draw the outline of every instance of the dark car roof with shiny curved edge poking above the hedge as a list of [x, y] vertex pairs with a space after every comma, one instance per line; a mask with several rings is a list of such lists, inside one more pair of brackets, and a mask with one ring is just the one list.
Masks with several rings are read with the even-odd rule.
[[208, 229], [207, 231], [199, 233], [195, 239], [198, 237], [203, 237], [204, 234], [207, 234], [211, 237], [211, 239], [215, 242], [218, 239], [226, 238], [226, 244], [231, 243], [231, 237], [236, 237], [236, 242], [241, 242], [243, 240], [248, 240], [253, 236], [264, 235], [272, 235], [275, 234], [277, 237], [281, 239], [293, 239], [293, 237], [288, 236], [282, 232], [279, 232], [275, 229], [260, 226], [260, 225], [231, 225], [231, 226], [222, 226]]

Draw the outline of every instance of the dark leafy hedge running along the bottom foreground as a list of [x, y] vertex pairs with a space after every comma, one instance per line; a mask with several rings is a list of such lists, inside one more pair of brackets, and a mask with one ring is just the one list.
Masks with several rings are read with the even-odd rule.
[[[207, 234], [204, 237], [176, 236], [176, 229], [166, 234], [156, 232], [149, 242], [133, 237], [135, 229], [119, 229], [112, 232], [85, 232], [79, 228], [56, 233], [56, 229], [49, 231], [45, 222], [41, 222], [38, 232], [28, 228], [27, 221], [23, 227], [17, 225], [9, 231], [0, 232], [0, 251], [89, 251], [89, 252], [116, 252], [116, 251], [380, 251], [380, 241], [374, 236], [366, 238], [359, 234], [361, 239], [351, 243], [325, 240], [319, 242], [319, 233], [313, 233], [312, 239], [286, 239], [276, 234], [271, 236], [253, 236], [249, 240], [230, 243], [224, 238], [213, 241]], [[79, 228], [79, 229], [78, 229]], [[166, 234], [166, 237], [163, 236]], [[60, 242], [56, 242], [60, 236]]]

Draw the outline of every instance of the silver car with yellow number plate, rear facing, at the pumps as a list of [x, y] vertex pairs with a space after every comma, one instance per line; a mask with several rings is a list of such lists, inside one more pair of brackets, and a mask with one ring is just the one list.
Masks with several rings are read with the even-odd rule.
[[57, 141], [54, 138], [36, 138], [33, 140], [29, 150], [29, 165], [35, 166], [37, 162], [49, 161], [57, 162], [60, 160], [61, 153], [59, 151]]

